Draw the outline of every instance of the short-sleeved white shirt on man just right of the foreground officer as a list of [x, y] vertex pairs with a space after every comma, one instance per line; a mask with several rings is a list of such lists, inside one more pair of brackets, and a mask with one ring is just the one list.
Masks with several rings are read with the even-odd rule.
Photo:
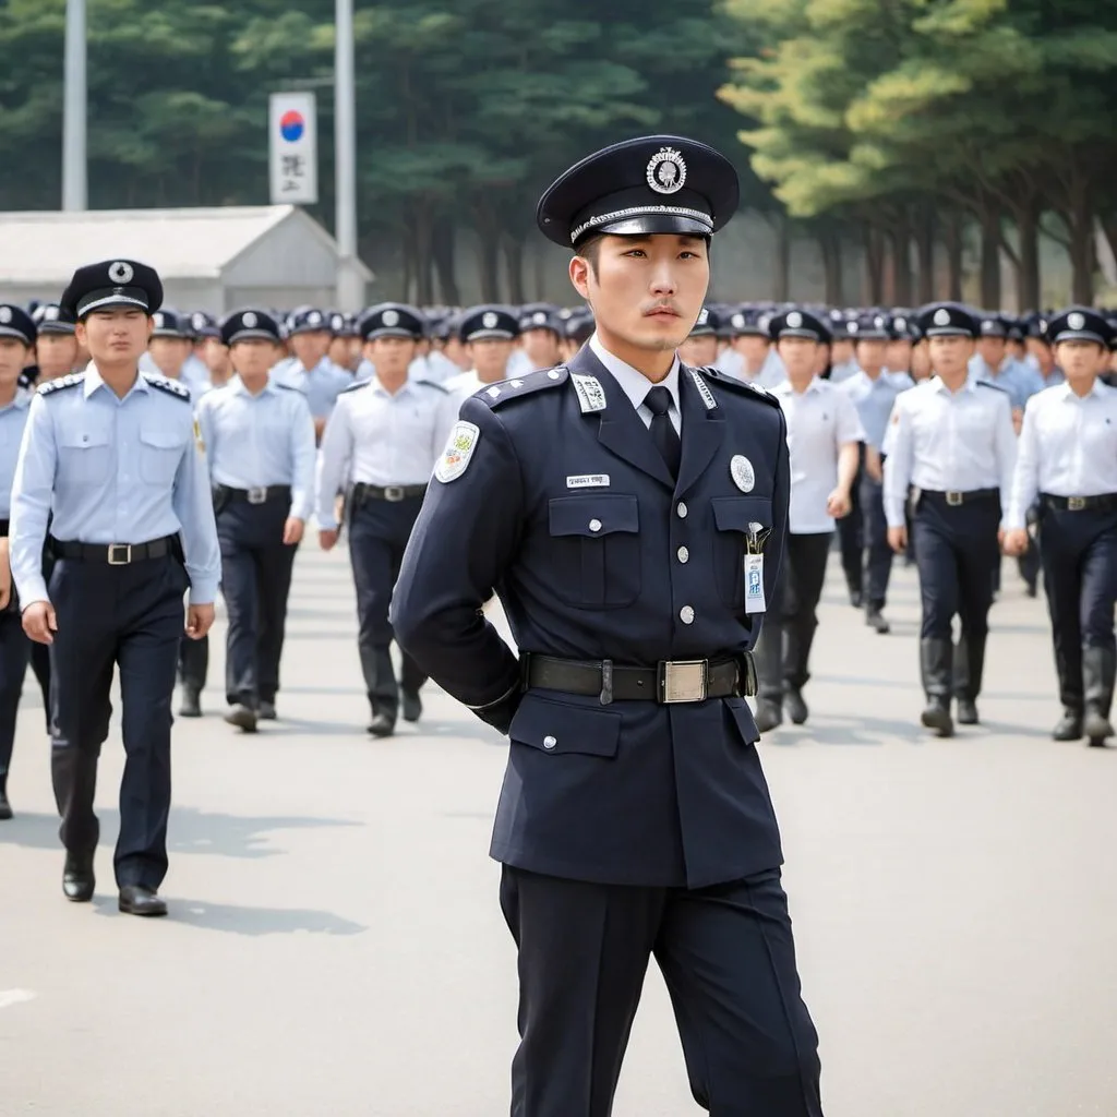
[[827, 500], [838, 485], [838, 455], [848, 442], [865, 440], [857, 408], [836, 384], [815, 376], [806, 391], [796, 392], [785, 380], [772, 389], [787, 419], [791, 452], [792, 535], [817, 535], [834, 529]]

